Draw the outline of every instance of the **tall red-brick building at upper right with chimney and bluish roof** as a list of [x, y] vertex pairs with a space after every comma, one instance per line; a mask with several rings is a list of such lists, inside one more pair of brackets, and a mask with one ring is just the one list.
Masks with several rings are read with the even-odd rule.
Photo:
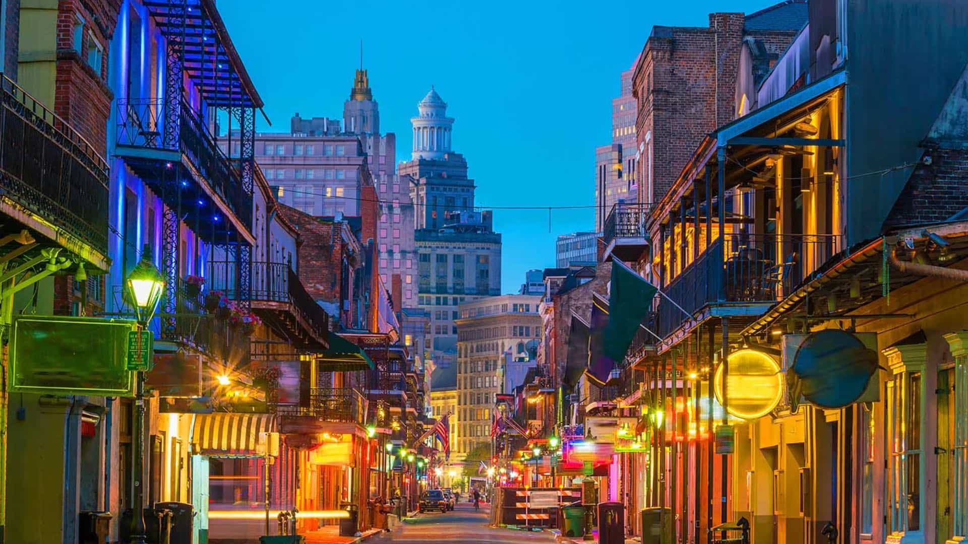
[[751, 15], [711, 14], [709, 27], [654, 26], [632, 79], [640, 202], [672, 186], [703, 136], [737, 116], [743, 46], [772, 63], [806, 22], [805, 0]]

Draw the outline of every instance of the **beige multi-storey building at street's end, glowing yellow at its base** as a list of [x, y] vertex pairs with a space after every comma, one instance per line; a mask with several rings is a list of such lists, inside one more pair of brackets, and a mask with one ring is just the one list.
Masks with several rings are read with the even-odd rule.
[[[540, 296], [505, 294], [460, 306], [455, 454], [466, 455], [490, 440], [495, 395], [508, 392], [506, 360], [536, 364], [541, 337]], [[520, 383], [512, 383], [517, 387]]]

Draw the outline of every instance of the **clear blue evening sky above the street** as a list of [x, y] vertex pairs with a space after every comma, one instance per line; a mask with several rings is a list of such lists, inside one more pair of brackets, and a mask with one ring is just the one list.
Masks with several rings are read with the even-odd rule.
[[[594, 203], [594, 148], [611, 141], [619, 75], [652, 25], [706, 26], [713, 11], [751, 13], [779, 0], [676, 2], [223, 0], [228, 32], [256, 83], [272, 130], [296, 111], [342, 118], [363, 40], [380, 131], [409, 159], [409, 118], [437, 87], [455, 118], [476, 202]], [[259, 116], [259, 130], [266, 130]], [[594, 210], [495, 212], [501, 283], [555, 265], [555, 237], [590, 230]]]

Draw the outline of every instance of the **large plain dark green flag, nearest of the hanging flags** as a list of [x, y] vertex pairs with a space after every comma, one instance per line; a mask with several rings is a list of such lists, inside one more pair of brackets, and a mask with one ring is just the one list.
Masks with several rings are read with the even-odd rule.
[[614, 361], [625, 358], [628, 346], [639, 331], [639, 324], [649, 316], [657, 290], [627, 264], [612, 257], [608, 326], [603, 346], [605, 355]]

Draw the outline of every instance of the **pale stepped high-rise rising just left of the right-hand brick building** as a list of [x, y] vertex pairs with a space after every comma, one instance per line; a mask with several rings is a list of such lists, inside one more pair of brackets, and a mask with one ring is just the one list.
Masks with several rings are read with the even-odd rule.
[[621, 73], [621, 93], [612, 99], [612, 143], [595, 148], [595, 229], [605, 228], [605, 218], [618, 202], [636, 202], [635, 116], [632, 76], [639, 59]]

